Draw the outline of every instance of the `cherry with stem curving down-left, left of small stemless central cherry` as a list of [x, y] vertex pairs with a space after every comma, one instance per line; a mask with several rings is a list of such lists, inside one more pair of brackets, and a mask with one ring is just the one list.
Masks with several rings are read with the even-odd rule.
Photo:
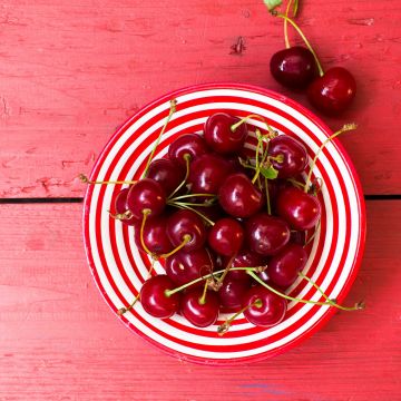
[[178, 246], [190, 236], [190, 241], [183, 247], [185, 251], [199, 250], [206, 242], [206, 228], [202, 217], [192, 211], [177, 211], [168, 217], [166, 232], [174, 246]]

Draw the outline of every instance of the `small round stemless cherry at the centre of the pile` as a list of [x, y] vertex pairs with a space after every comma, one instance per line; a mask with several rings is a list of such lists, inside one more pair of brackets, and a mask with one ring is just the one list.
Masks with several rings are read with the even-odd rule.
[[209, 229], [207, 242], [221, 255], [235, 255], [243, 245], [244, 228], [234, 218], [221, 218]]

